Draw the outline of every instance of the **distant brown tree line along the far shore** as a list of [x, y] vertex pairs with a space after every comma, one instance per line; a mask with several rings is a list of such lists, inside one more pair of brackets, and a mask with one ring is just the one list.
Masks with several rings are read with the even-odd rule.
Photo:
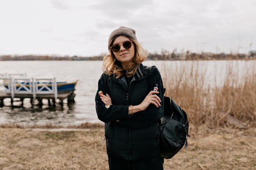
[[[1, 55], [1, 61], [20, 61], [20, 60], [103, 60], [106, 54], [92, 57], [79, 57], [79, 56], [49, 56], [49, 55]], [[158, 53], [149, 53], [147, 60], [236, 60], [236, 59], [256, 59], [256, 55], [245, 54], [214, 54], [214, 53], [191, 53], [186, 51], [184, 53], [172, 53], [168, 51], [162, 51]]]

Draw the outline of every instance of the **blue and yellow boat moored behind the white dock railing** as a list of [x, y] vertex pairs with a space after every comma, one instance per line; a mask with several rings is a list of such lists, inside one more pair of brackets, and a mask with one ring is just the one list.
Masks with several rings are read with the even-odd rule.
[[0, 94], [2, 94], [2, 98], [10, 95], [12, 99], [14, 97], [30, 97], [34, 99], [38, 97], [55, 99], [69, 97], [69, 99], [73, 100], [77, 82], [78, 80], [74, 82], [57, 82], [56, 78], [27, 78], [26, 74], [4, 74], [0, 75]]

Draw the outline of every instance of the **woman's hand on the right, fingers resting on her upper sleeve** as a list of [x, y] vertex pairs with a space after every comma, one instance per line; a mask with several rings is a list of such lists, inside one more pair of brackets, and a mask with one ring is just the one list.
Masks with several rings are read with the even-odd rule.
[[159, 91], [150, 91], [148, 93], [148, 95], [145, 97], [145, 99], [143, 100], [143, 102], [141, 102], [141, 104], [139, 104], [141, 110], [145, 110], [150, 104], [154, 104], [156, 107], [161, 106], [160, 102], [161, 99], [155, 95], [158, 94]]

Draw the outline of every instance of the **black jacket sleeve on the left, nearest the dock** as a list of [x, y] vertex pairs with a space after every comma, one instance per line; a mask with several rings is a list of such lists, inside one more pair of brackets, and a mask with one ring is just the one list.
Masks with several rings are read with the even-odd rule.
[[122, 105], [110, 105], [109, 108], [101, 101], [99, 91], [102, 91], [104, 95], [109, 94], [108, 84], [107, 84], [107, 75], [104, 73], [101, 75], [101, 78], [98, 82], [98, 90], [95, 96], [96, 103], [96, 112], [98, 119], [107, 123], [110, 121], [116, 121], [128, 118], [128, 107]]

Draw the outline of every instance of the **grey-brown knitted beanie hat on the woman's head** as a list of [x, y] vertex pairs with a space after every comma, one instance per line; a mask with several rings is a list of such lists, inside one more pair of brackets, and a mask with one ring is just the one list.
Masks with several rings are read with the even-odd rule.
[[126, 26], [120, 26], [118, 29], [112, 31], [112, 33], [110, 34], [110, 36], [108, 38], [108, 49], [110, 49], [110, 41], [114, 37], [119, 36], [119, 35], [126, 35], [129, 38], [137, 40], [134, 29], [131, 29], [131, 28], [126, 27]]

